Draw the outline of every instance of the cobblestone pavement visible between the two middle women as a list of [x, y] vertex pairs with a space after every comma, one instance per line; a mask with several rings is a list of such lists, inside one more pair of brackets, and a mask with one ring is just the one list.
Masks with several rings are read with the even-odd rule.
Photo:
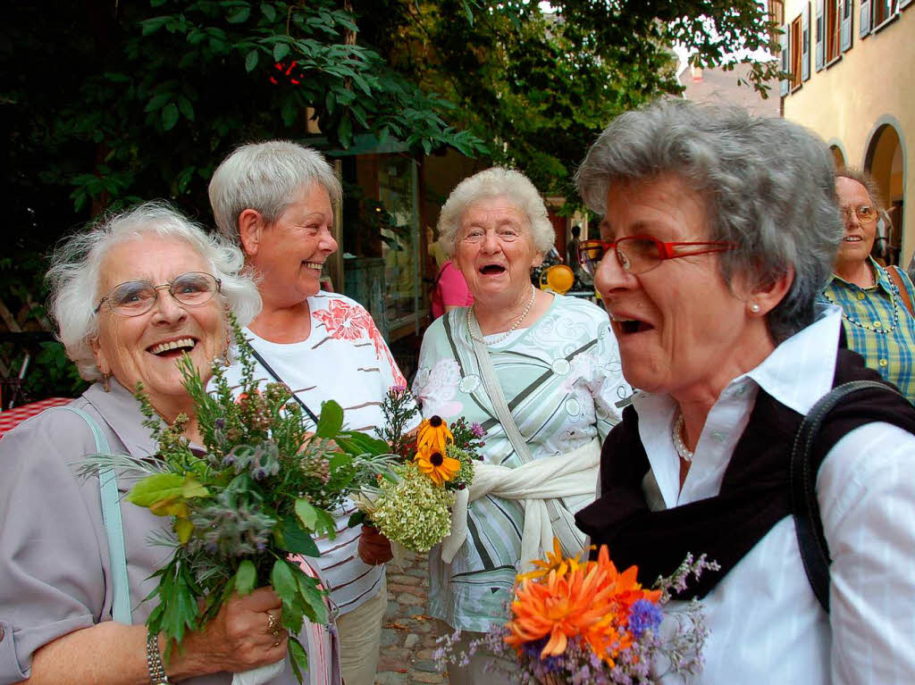
[[432, 658], [436, 637], [434, 621], [425, 614], [428, 590], [425, 555], [407, 552], [403, 568], [388, 564], [388, 610], [376, 685], [447, 683], [447, 674]]

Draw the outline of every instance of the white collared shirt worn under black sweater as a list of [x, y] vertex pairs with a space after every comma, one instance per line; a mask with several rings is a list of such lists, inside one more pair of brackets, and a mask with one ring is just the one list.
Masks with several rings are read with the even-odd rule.
[[[831, 389], [841, 322], [839, 307], [825, 307], [812, 326], [728, 384], [708, 414], [682, 489], [673, 398], [634, 398], [668, 508], [719, 493], [759, 388], [802, 414]], [[833, 558], [830, 614], [803, 571], [793, 519], [782, 519], [702, 600], [711, 634], [694, 682], [915, 683], [913, 465], [915, 435], [888, 423], [868, 423], [835, 444], [816, 481]]]

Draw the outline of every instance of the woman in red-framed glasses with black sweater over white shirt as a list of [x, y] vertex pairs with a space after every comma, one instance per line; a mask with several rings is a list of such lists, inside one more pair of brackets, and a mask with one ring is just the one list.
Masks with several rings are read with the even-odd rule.
[[577, 181], [604, 217], [580, 253], [640, 389], [580, 528], [646, 583], [687, 552], [720, 563], [688, 590], [710, 631], [697, 681], [915, 681], [915, 410], [882, 384], [848, 395], [792, 466], [834, 385], [879, 380], [817, 304], [843, 234], [825, 145], [667, 100], [611, 123]]

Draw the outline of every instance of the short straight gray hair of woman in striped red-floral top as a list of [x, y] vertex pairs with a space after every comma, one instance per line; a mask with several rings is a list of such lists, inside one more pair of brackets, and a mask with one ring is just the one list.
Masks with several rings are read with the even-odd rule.
[[222, 235], [239, 244], [242, 211], [254, 209], [272, 224], [299, 189], [314, 184], [328, 191], [335, 207], [339, 205], [339, 179], [317, 150], [285, 140], [244, 144], [213, 172], [210, 206]]

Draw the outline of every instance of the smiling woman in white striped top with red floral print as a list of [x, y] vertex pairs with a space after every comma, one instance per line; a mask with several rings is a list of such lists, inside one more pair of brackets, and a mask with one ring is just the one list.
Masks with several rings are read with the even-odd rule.
[[[285, 382], [303, 409], [316, 415], [323, 401], [337, 401], [350, 430], [371, 434], [382, 427], [385, 394], [406, 380], [369, 313], [349, 297], [319, 288], [324, 262], [338, 248], [331, 229], [340, 196], [325, 159], [285, 141], [242, 145], [210, 181], [216, 224], [242, 248], [264, 300], [244, 329], [264, 381]], [[315, 562], [339, 607], [343, 679], [371, 685], [387, 594], [383, 565], [359, 555], [363, 531], [377, 533], [348, 527], [355, 510], [347, 500], [335, 512], [337, 536], [317, 541], [321, 556]]]

